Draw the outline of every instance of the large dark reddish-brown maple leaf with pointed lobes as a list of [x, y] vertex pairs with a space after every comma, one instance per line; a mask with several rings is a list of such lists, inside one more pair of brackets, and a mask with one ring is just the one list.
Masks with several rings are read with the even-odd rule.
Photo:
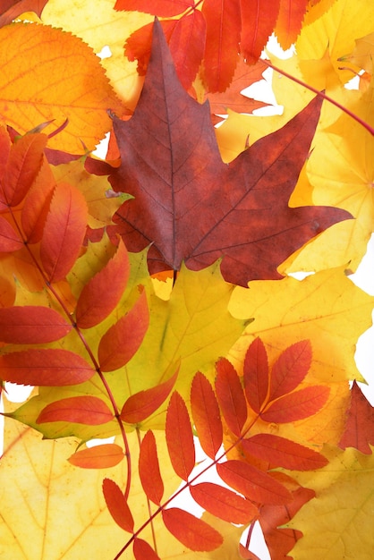
[[329, 225], [350, 215], [327, 207], [289, 208], [319, 119], [319, 98], [299, 115], [222, 162], [210, 109], [178, 81], [160, 25], [154, 26], [149, 69], [132, 118], [114, 118], [122, 164], [115, 191], [134, 198], [114, 216], [127, 248], [150, 245], [149, 270], [192, 270], [223, 257], [225, 280], [246, 285], [276, 279], [276, 267]]

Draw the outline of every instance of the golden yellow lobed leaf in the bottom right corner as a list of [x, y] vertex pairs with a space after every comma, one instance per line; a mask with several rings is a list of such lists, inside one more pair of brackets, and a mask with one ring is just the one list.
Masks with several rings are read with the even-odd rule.
[[294, 560], [371, 560], [374, 455], [352, 447], [327, 447], [324, 454], [329, 462], [323, 469], [292, 473], [316, 497], [286, 525], [303, 533], [290, 554]]

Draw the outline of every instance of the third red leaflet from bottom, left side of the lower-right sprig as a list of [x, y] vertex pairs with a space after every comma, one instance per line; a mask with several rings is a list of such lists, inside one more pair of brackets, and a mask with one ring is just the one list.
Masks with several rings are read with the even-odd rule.
[[187, 480], [195, 466], [195, 446], [187, 407], [176, 391], [166, 412], [166, 444], [174, 471]]

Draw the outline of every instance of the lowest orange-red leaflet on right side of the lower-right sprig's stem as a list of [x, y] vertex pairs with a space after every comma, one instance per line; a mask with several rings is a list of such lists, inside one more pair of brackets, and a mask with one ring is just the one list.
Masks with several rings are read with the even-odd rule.
[[208, 523], [178, 507], [163, 510], [162, 518], [166, 529], [175, 539], [195, 552], [210, 552], [220, 547], [224, 541]]

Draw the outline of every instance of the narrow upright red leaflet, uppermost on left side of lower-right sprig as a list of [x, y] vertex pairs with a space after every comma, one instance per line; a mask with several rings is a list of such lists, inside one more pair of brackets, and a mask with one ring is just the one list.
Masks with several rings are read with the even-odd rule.
[[268, 354], [260, 338], [251, 343], [245, 354], [243, 379], [247, 401], [259, 413], [268, 395]]

